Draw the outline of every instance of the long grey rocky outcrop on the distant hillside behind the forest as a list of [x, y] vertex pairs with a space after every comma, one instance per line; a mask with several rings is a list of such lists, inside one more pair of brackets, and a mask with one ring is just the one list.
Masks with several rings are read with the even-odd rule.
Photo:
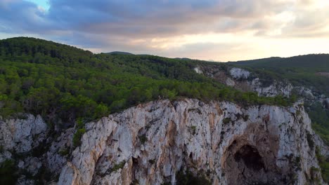
[[275, 97], [282, 95], [290, 97], [292, 93], [297, 93], [306, 102], [321, 102], [324, 107], [328, 105], [326, 103], [327, 97], [316, 92], [316, 90], [312, 90], [312, 87], [294, 86], [285, 79], [264, 79], [246, 69], [205, 65], [195, 67], [195, 71], [238, 90], [253, 91], [259, 96]]

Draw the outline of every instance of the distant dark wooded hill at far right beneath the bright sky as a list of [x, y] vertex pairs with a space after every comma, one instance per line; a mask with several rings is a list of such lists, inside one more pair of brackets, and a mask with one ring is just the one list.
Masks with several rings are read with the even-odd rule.
[[329, 54], [269, 57], [228, 64], [247, 68], [264, 78], [286, 78], [295, 85], [313, 87], [329, 95]]

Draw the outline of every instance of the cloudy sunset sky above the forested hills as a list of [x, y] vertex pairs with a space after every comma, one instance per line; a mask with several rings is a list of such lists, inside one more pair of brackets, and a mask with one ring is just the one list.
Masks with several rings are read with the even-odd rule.
[[0, 0], [0, 39], [235, 61], [329, 53], [328, 0]]

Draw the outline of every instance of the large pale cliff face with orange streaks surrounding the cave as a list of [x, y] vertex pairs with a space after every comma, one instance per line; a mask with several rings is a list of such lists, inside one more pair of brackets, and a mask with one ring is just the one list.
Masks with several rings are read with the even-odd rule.
[[227, 102], [162, 100], [89, 123], [86, 130], [58, 184], [174, 184], [181, 167], [209, 172], [213, 184], [237, 184], [243, 172], [235, 165], [254, 172], [234, 159], [251, 152], [243, 147], [262, 157], [261, 170], [250, 179], [307, 184], [311, 175], [320, 177], [311, 174], [318, 162], [307, 135], [314, 132], [297, 104], [244, 109]]

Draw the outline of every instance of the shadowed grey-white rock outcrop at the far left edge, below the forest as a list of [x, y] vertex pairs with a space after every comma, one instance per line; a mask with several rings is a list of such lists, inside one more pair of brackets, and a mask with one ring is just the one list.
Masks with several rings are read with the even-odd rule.
[[18, 177], [17, 184], [35, 184], [26, 174], [33, 177], [39, 173], [42, 158], [32, 153], [39, 155], [47, 132], [48, 126], [41, 116], [21, 114], [20, 118], [0, 120], [0, 163], [13, 162], [13, 166], [7, 165], [7, 169], [1, 170], [13, 170], [13, 175]]

